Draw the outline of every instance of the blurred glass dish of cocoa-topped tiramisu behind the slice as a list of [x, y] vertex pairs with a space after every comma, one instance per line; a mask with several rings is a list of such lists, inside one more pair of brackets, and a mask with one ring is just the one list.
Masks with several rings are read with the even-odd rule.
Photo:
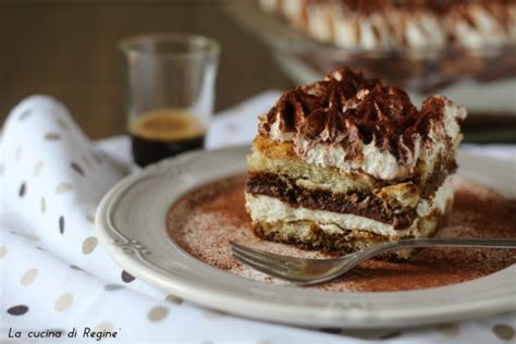
[[348, 66], [415, 103], [444, 94], [464, 105], [468, 142], [516, 138], [514, 0], [256, 0], [228, 9], [295, 84]]

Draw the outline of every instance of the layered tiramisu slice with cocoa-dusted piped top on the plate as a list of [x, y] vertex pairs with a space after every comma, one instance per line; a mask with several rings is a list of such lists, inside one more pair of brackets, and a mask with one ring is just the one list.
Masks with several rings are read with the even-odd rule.
[[431, 236], [451, 208], [465, 116], [440, 96], [418, 110], [402, 89], [347, 69], [286, 91], [247, 159], [255, 232], [341, 254]]

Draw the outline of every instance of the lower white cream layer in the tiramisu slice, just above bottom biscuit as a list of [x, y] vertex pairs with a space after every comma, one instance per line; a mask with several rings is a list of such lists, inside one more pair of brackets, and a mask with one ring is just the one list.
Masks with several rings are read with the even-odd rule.
[[[433, 199], [421, 200], [417, 206], [417, 214], [422, 218], [434, 210], [444, 212], [447, 202], [453, 198], [453, 179], [447, 176], [443, 185], [437, 191]], [[246, 194], [246, 208], [253, 221], [263, 222], [294, 222], [312, 221], [319, 224], [327, 233], [344, 233], [346, 229], [363, 230], [388, 236], [417, 236], [418, 219], [403, 230], [395, 230], [393, 225], [351, 213], [339, 213], [327, 210], [294, 208], [274, 197]]]

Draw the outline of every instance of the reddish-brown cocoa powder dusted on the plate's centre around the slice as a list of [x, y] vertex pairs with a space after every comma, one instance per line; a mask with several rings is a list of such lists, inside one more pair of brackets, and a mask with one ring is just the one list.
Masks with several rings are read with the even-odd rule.
[[[198, 259], [245, 278], [288, 284], [233, 259], [229, 241], [281, 255], [324, 258], [318, 251], [266, 242], [250, 229], [245, 210], [245, 175], [197, 188], [170, 209], [169, 233]], [[456, 177], [455, 204], [437, 237], [516, 237], [516, 201], [470, 181]], [[408, 262], [369, 260], [324, 285], [329, 291], [386, 292], [449, 285], [478, 279], [516, 262], [516, 250], [423, 248]]]

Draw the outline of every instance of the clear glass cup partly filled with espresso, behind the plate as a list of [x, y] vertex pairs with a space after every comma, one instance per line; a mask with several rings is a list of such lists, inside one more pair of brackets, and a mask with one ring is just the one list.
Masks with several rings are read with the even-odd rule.
[[195, 35], [130, 37], [123, 56], [127, 128], [142, 167], [202, 148], [213, 111], [219, 44]]

